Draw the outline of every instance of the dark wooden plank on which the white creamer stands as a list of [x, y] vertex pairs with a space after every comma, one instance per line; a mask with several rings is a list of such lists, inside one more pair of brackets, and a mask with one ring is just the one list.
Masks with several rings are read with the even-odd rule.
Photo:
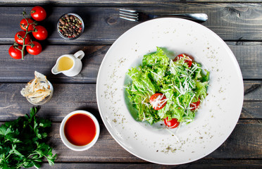
[[[244, 79], [262, 79], [261, 42], [227, 42], [232, 49]], [[236, 45], [237, 44], [237, 45]], [[46, 45], [38, 56], [27, 54], [25, 60], [15, 60], [8, 55], [10, 45], [0, 45], [0, 82], [29, 82], [34, 77], [34, 71], [44, 73], [52, 82], [96, 82], [99, 66], [110, 46], [76, 46], [76, 45]], [[51, 68], [56, 59], [63, 54], [74, 54], [76, 51], [85, 52], [82, 59], [83, 68], [80, 75], [66, 77], [63, 74], [53, 75]], [[248, 57], [247, 57], [248, 56]], [[19, 71], [18, 71], [19, 70]]]

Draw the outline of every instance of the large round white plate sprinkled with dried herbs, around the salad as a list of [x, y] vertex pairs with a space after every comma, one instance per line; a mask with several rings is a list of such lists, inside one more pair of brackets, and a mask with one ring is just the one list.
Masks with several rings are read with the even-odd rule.
[[[179, 130], [138, 122], [125, 104], [125, 73], [156, 46], [174, 56], [192, 55], [210, 71], [205, 103]], [[203, 25], [180, 18], [149, 20], [121, 35], [106, 53], [96, 82], [100, 115], [116, 142], [145, 161], [166, 165], [196, 161], [223, 144], [237, 124], [243, 97], [242, 74], [227, 44]]]

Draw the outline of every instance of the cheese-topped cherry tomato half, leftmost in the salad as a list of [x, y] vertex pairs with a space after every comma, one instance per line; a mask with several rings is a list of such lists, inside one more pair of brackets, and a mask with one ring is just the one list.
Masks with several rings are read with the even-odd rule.
[[163, 108], [164, 106], [166, 106], [166, 96], [165, 94], [161, 94], [161, 93], [156, 93], [153, 94], [150, 97], [150, 104], [153, 106], [153, 108], [158, 111], [161, 108]]

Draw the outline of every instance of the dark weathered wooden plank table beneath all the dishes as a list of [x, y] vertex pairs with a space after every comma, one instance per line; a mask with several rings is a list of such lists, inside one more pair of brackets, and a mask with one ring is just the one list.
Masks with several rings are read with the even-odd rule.
[[[27, 54], [25, 60], [8, 55], [14, 35], [20, 31], [22, 11], [43, 6], [48, 16], [40, 23], [49, 37], [42, 42], [38, 56]], [[216, 32], [230, 46], [244, 78], [244, 105], [230, 137], [213, 153], [184, 165], [148, 163], [123, 149], [106, 130], [96, 104], [96, 76], [111, 44], [138, 23], [118, 18], [118, 8], [132, 8], [153, 13], [207, 13], [202, 25]], [[84, 34], [73, 41], [58, 36], [56, 22], [63, 13], [77, 13], [85, 22]], [[39, 116], [53, 122], [49, 142], [58, 154], [52, 168], [262, 168], [262, 3], [260, 0], [192, 1], [121, 1], [121, 0], [0, 0], [0, 120], [4, 123], [28, 113], [32, 105], [20, 90], [32, 80], [37, 70], [54, 85], [54, 96], [41, 106]], [[85, 51], [80, 75], [52, 75], [58, 56]], [[88, 151], [71, 151], [59, 137], [61, 120], [78, 109], [98, 118], [101, 134]], [[47, 162], [43, 168], [50, 168]]]

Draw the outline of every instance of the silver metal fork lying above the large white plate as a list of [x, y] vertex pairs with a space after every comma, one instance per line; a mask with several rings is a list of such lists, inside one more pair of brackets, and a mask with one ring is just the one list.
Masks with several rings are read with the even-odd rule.
[[119, 17], [125, 20], [130, 20], [134, 22], [150, 20], [154, 18], [163, 17], [175, 17], [175, 18], [185, 18], [189, 20], [194, 20], [197, 22], [205, 22], [208, 20], [208, 15], [206, 13], [182, 13], [182, 14], [167, 14], [167, 15], [153, 15], [149, 13], [143, 13], [141, 11], [119, 9]]

